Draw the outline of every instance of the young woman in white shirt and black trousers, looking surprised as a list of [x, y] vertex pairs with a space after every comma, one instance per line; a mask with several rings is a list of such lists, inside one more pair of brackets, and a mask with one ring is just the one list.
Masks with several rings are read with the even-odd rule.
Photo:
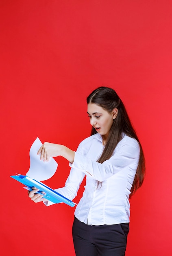
[[[45, 142], [40, 159], [61, 155], [71, 163], [65, 186], [57, 189], [73, 200], [86, 175], [83, 197], [72, 228], [76, 256], [124, 256], [129, 231], [129, 197], [142, 185], [144, 154], [124, 104], [116, 92], [99, 87], [87, 97], [91, 136], [76, 152]], [[28, 191], [34, 202], [50, 201]]]

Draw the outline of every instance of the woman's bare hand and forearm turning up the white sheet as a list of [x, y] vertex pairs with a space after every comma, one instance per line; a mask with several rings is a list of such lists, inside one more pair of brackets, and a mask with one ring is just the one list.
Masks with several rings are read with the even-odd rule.
[[50, 157], [58, 157], [61, 155], [69, 162], [74, 162], [75, 152], [66, 146], [44, 142], [44, 144], [39, 148], [37, 155], [41, 154], [40, 160], [44, 162], [49, 161]]

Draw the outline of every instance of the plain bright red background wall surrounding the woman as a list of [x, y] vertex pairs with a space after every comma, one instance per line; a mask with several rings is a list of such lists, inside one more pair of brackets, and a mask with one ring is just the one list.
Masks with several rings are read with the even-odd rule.
[[[124, 101], [147, 163], [126, 256], [172, 255], [171, 0], [1, 0], [0, 24], [1, 255], [74, 255], [74, 208], [34, 204], [9, 176], [28, 171], [37, 136], [76, 150], [91, 129], [86, 97], [104, 84]], [[70, 171], [56, 160], [53, 188]]]

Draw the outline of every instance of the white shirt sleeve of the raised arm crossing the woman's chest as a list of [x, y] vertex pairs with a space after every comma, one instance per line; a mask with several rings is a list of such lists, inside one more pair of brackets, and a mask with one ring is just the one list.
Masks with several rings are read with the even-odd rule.
[[138, 165], [139, 152], [138, 142], [129, 138], [121, 142], [120, 146], [115, 148], [112, 157], [102, 164], [76, 152], [72, 168], [82, 170], [86, 175], [102, 182], [131, 164]]

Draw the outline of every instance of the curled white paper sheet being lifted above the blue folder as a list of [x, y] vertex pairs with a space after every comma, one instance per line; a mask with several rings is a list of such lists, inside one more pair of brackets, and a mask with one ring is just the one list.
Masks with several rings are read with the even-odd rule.
[[40, 161], [40, 155], [37, 155], [39, 148], [42, 146], [40, 139], [37, 137], [30, 148], [30, 168], [26, 175], [34, 180], [43, 181], [50, 179], [57, 170], [57, 162], [50, 157], [48, 162]]

